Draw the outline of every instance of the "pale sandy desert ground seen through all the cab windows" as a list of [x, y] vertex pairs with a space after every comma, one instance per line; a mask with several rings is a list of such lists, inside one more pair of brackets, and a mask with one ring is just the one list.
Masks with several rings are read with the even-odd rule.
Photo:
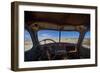
[[[53, 39], [53, 40], [55, 40], [56, 42], [58, 42], [57, 39]], [[68, 42], [68, 43], [77, 43], [78, 39], [77, 38], [63, 38], [63, 39], [61, 39], [61, 42], [65, 42], [65, 43], [66, 42]], [[51, 41], [46, 41], [46, 43], [52, 43], [52, 42]], [[44, 44], [44, 42], [41, 42], [40, 44]], [[85, 38], [83, 40], [82, 46], [86, 47], [86, 48], [90, 48], [90, 38]], [[25, 40], [24, 41], [25, 51], [30, 50], [32, 47], [33, 47], [33, 43], [32, 43], [31, 40]]]

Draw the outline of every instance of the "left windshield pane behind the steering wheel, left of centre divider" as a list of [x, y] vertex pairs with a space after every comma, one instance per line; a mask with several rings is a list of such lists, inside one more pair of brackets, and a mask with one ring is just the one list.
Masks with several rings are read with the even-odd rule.
[[[54, 30], [40, 30], [38, 31], [38, 39], [42, 41], [44, 39], [52, 39], [55, 42], [59, 40], [59, 32]], [[40, 42], [40, 44], [44, 44], [45, 42]], [[52, 41], [47, 40], [46, 43], [52, 43]]]

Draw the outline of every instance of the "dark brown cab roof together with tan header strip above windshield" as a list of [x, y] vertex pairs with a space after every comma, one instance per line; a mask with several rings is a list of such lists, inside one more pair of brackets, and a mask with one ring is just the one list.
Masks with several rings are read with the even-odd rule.
[[75, 30], [79, 26], [84, 26], [89, 30], [90, 14], [25, 11], [25, 25], [38, 29], [63, 30]]

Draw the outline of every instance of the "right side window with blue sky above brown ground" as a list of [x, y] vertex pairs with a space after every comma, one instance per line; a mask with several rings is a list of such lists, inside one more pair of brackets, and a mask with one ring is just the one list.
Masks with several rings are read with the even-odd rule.
[[82, 46], [85, 48], [90, 48], [90, 31], [86, 32]]

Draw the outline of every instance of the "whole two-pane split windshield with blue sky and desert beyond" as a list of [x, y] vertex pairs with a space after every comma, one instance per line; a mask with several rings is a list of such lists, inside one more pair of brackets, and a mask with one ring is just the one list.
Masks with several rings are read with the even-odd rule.
[[[44, 39], [52, 39], [55, 42], [61, 43], [77, 43], [79, 38], [79, 32], [77, 31], [55, 31], [55, 30], [40, 30], [38, 31], [38, 39], [42, 41]], [[46, 43], [53, 43], [47, 40]], [[45, 44], [45, 42], [40, 42]]]

